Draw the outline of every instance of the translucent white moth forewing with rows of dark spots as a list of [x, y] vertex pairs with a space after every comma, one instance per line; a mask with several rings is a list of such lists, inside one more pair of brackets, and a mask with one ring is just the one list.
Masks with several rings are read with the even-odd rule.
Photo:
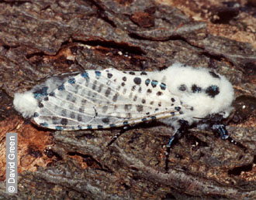
[[182, 114], [180, 100], [161, 80], [144, 72], [88, 70], [45, 97], [33, 120], [57, 130], [96, 129], [136, 124]]

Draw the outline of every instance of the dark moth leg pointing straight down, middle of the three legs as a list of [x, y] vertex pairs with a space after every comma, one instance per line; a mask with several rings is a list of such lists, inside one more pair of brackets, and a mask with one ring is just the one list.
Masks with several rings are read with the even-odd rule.
[[186, 120], [179, 120], [178, 123], [180, 124], [180, 127], [177, 131], [175, 131], [175, 134], [173, 134], [168, 141], [168, 144], [166, 145], [166, 151], [165, 151], [165, 171], [168, 171], [168, 160], [169, 160], [169, 154], [171, 147], [175, 144], [175, 141], [178, 141], [185, 133], [189, 132], [189, 123]]

